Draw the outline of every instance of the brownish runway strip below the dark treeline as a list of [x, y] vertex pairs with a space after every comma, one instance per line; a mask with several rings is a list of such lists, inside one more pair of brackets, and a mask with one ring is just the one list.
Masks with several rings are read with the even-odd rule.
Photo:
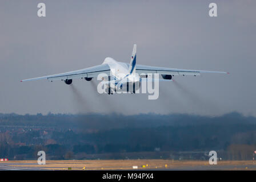
[[198, 160], [46, 160], [45, 165], [39, 165], [37, 160], [10, 160], [1, 162], [0, 170], [256, 170], [256, 162], [221, 161], [210, 165], [208, 161]]

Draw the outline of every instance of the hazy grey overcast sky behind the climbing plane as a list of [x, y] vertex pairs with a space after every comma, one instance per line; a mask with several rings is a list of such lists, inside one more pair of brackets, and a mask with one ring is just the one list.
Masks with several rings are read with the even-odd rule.
[[[46, 17], [37, 4], [46, 4]], [[218, 17], [209, 16], [209, 3]], [[256, 115], [256, 1], [1, 1], [0, 113]], [[101, 64], [227, 71], [175, 77], [146, 94], [100, 95], [95, 81], [19, 82]]]

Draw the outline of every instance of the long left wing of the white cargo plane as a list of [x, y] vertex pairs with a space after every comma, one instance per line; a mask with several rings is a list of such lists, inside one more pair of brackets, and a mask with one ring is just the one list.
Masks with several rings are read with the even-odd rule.
[[43, 80], [47, 79], [49, 81], [54, 80], [66, 80], [66, 79], [73, 79], [73, 78], [93, 78], [97, 77], [99, 73], [106, 73], [108, 76], [110, 75], [110, 68], [108, 64], [101, 64], [90, 68], [85, 69], [79, 69], [77, 71], [71, 71], [66, 73], [60, 73], [56, 75], [48, 75], [43, 77], [37, 77], [37, 78], [29, 78], [22, 81], [33, 81], [33, 80]]

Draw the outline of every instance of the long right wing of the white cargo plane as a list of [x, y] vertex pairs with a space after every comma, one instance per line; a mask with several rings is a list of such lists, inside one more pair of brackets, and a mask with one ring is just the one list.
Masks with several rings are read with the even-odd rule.
[[200, 73], [227, 73], [219, 71], [204, 71], [204, 70], [193, 70], [193, 69], [177, 69], [177, 68], [162, 68], [162, 67], [151, 67], [147, 65], [136, 65], [136, 73], [141, 75], [144, 73], [159, 73], [161, 75], [200, 75]]

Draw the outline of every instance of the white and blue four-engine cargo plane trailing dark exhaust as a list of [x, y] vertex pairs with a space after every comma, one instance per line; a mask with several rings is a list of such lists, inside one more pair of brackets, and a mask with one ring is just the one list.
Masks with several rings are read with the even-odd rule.
[[[159, 81], [173, 81], [173, 77], [176, 75], [199, 76], [201, 75], [201, 73], [227, 73], [220, 71], [203, 71], [139, 65], [136, 64], [136, 59], [137, 45], [134, 44], [130, 64], [116, 61], [111, 57], [106, 57], [101, 65], [96, 65], [94, 67], [85, 69], [79, 69], [77, 71], [60, 73], [57, 75], [29, 78], [21, 80], [21, 82], [47, 79], [51, 82], [55, 80], [61, 80], [64, 81], [67, 85], [70, 85], [72, 84], [74, 78], [85, 78], [86, 81], [91, 81], [92, 78], [97, 77], [100, 73], [104, 73], [107, 77], [102, 78], [103, 84], [107, 85], [107, 93], [113, 94], [111, 90], [120, 90], [123, 88], [123, 85], [129, 84], [133, 85], [133, 93], [135, 93], [135, 90], [139, 89], [139, 86], [141, 86], [140, 83], [142, 81], [154, 81], [153, 79], [150, 80], [149, 78], [147, 78], [148, 75], [153, 73], [158, 73], [162, 76], [162, 78], [159, 78]], [[135, 88], [135, 85], [139, 86]]]

